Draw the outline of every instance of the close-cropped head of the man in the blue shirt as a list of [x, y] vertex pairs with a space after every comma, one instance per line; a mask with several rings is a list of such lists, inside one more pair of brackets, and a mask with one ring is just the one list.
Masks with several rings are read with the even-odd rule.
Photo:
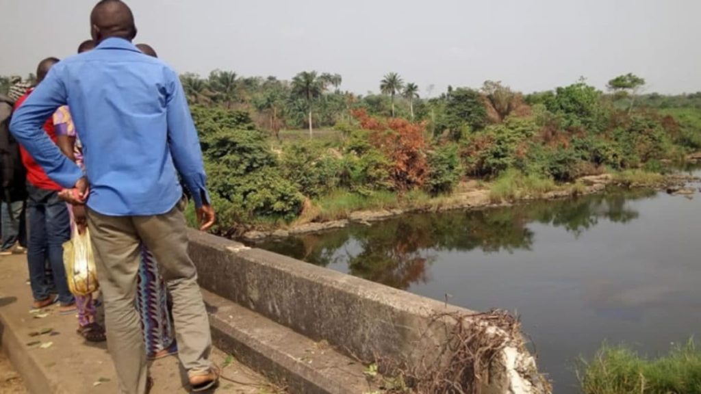
[[136, 36], [134, 15], [120, 0], [102, 0], [90, 13], [91, 34], [95, 44], [116, 37], [132, 41]]

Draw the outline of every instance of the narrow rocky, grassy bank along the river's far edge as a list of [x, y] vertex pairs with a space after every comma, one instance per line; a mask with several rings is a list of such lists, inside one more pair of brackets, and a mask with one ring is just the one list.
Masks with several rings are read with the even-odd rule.
[[[534, 200], [555, 200], [600, 193], [608, 186], [629, 189], [648, 188], [669, 193], [689, 195], [684, 186], [695, 179], [690, 175], [672, 173], [660, 175], [642, 170], [632, 170], [601, 175], [580, 177], [567, 184], [534, 185], [535, 182], [510, 182], [508, 192], [500, 190], [499, 181], [482, 182], [468, 180], [461, 182], [456, 191], [447, 196], [430, 198], [425, 193], [411, 194], [400, 198], [394, 196], [380, 199], [376, 209], [334, 210], [331, 215], [319, 205], [307, 201], [304, 212], [291, 224], [273, 229], [254, 229], [243, 233], [244, 240], [256, 242], [266, 238], [286, 238], [288, 236], [318, 233], [332, 229], [342, 229], [352, 223], [370, 224], [391, 217], [409, 213], [445, 212], [449, 210], [477, 210], [515, 205]], [[333, 198], [333, 196], [332, 196]], [[342, 196], [339, 196], [342, 198]], [[367, 198], [372, 198], [369, 196]], [[367, 203], [366, 203], [367, 205]], [[331, 217], [332, 219], [329, 219]]]

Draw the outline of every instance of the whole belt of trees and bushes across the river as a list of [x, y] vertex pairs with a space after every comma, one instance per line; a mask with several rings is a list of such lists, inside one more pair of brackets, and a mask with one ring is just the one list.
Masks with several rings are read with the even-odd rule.
[[365, 96], [318, 72], [281, 81], [216, 70], [182, 82], [217, 232], [229, 236], [428, 201], [467, 177], [494, 180], [501, 199], [517, 197], [514, 186], [538, 192], [601, 172], [659, 172], [701, 149], [701, 93], [640, 95], [645, 81], [632, 74], [612, 79], [608, 93], [584, 79], [529, 95], [486, 81], [428, 99], [396, 73], [379, 81], [381, 95]]

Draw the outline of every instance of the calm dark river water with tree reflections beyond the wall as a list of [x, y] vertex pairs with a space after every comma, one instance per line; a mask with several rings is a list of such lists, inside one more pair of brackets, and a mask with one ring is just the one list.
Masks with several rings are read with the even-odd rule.
[[701, 334], [698, 193], [618, 190], [406, 215], [259, 247], [472, 310], [517, 313], [554, 393], [578, 393], [578, 360], [604, 341], [656, 355]]

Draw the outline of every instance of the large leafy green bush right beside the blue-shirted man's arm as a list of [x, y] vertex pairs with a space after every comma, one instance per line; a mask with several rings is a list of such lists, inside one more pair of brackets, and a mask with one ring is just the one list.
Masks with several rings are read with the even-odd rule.
[[[250, 118], [237, 111], [195, 109], [208, 187], [217, 210], [215, 231], [231, 235], [260, 219], [292, 220], [304, 196], [285, 177], [266, 135], [250, 128]], [[233, 127], [243, 128], [233, 128]]]

